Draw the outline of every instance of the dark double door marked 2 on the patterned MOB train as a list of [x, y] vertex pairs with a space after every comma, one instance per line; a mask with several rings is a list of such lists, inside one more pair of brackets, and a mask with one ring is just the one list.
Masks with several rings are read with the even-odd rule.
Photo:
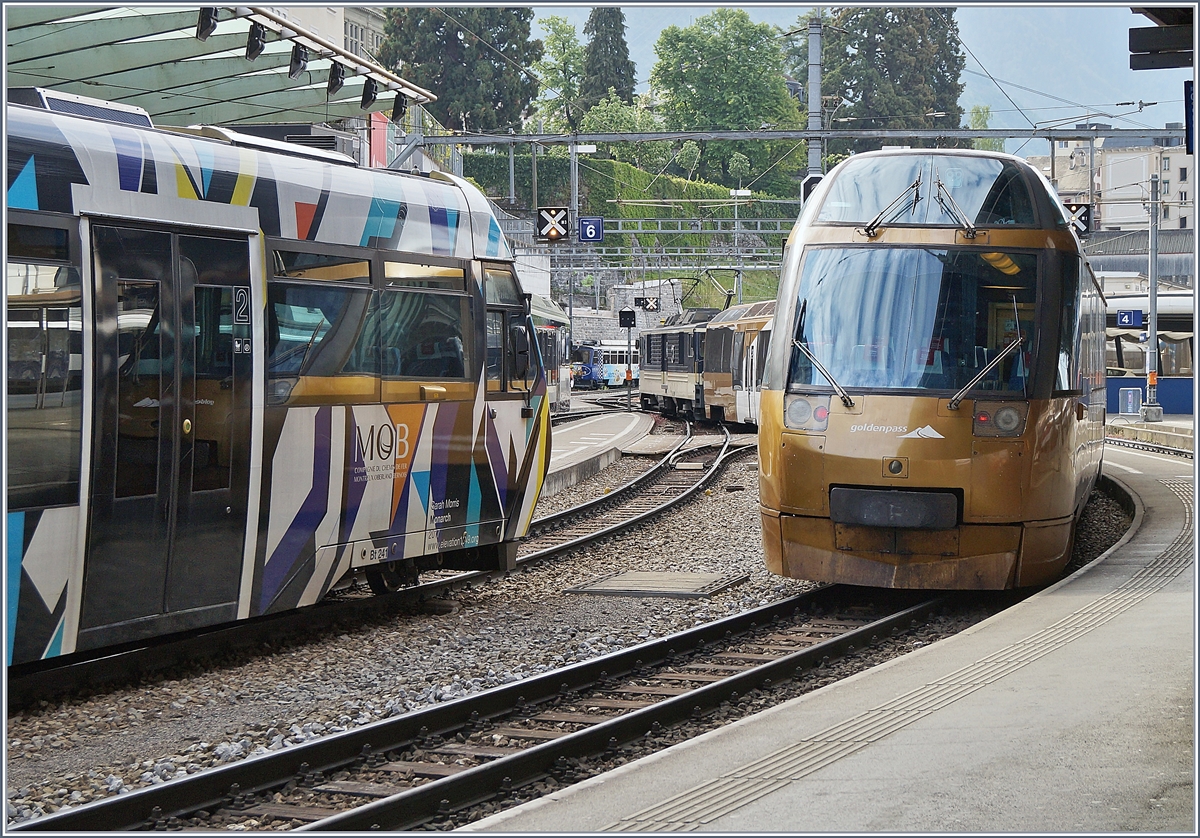
[[236, 616], [252, 378], [247, 239], [97, 225], [91, 241], [80, 650]]

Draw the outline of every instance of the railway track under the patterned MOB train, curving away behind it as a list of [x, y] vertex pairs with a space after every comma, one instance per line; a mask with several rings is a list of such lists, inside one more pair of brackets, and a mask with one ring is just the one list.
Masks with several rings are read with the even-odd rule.
[[[536, 537], [536, 544], [530, 541], [522, 545], [517, 567], [552, 558], [590, 540], [649, 521], [703, 490], [734, 457], [745, 456], [752, 450], [752, 447], [731, 448], [728, 435], [719, 453], [704, 448], [683, 455], [683, 444], [682, 442], [664, 456], [647, 475], [611, 495], [534, 521], [530, 532], [541, 534]], [[695, 468], [696, 462], [702, 463], [701, 469]], [[650, 499], [637, 499], [638, 492], [643, 491], [650, 493]], [[558, 527], [563, 527], [569, 535], [556, 537], [553, 531]], [[425, 601], [464, 587], [484, 585], [504, 573], [506, 571], [462, 573], [383, 595], [358, 589], [343, 591], [335, 598], [307, 609], [126, 644], [97, 654], [83, 653], [54, 662], [13, 666], [8, 670], [7, 707], [10, 712], [14, 712], [38, 700], [54, 699], [79, 688], [100, 689], [127, 683], [172, 666], [211, 658], [215, 650], [228, 652], [254, 648], [281, 638], [311, 636], [343, 623], [418, 610]]]

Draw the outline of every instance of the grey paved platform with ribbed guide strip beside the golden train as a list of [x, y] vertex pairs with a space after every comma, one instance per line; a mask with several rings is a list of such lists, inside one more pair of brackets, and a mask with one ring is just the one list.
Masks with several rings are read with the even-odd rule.
[[1134, 525], [1070, 577], [462, 831], [1195, 834], [1193, 466], [1105, 462]]

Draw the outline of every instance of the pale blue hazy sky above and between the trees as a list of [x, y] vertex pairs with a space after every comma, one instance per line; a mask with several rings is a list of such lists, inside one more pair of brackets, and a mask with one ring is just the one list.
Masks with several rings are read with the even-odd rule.
[[[654, 43], [667, 25], [686, 26], [718, 6], [623, 6], [625, 41], [636, 65], [638, 91], [655, 59]], [[793, 29], [808, 6], [738, 4], [750, 17]], [[584, 42], [583, 24], [590, 6], [535, 7], [534, 36], [545, 32], [538, 18], [565, 17]], [[956, 12], [966, 49], [959, 103], [991, 107], [991, 127], [1028, 128], [1058, 120], [1108, 122], [1114, 127], [1163, 127], [1183, 122], [1183, 82], [1192, 70], [1129, 70], [1129, 29], [1153, 23], [1129, 6], [983, 6], [964, 5]], [[990, 77], [990, 78], [989, 78]], [[992, 80], [996, 79], [996, 82]], [[1012, 100], [1012, 101], [1010, 101]], [[1138, 106], [1117, 102], [1157, 102], [1139, 113]], [[1066, 125], [1073, 125], [1067, 121]], [[1009, 143], [1016, 151], [1021, 143]], [[1046, 154], [1045, 142], [1031, 142], [1019, 154]]]

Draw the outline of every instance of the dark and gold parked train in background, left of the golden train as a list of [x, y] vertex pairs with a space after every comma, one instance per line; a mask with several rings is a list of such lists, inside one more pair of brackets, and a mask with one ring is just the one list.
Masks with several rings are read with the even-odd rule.
[[642, 408], [758, 424], [758, 390], [775, 300], [688, 309], [642, 331]]

